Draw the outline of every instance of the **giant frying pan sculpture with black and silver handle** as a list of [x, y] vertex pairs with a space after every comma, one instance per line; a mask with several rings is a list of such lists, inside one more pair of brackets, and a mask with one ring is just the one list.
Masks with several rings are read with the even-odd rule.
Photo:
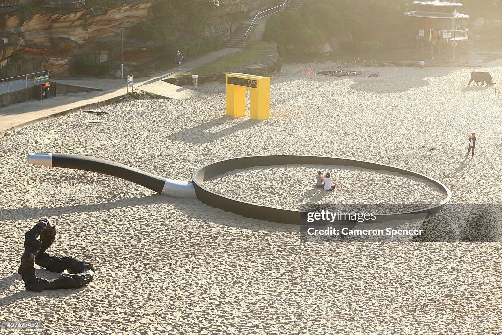
[[385, 170], [417, 177], [423, 181], [434, 184], [442, 191], [442, 193], [445, 194], [443, 201], [436, 205], [427, 206], [423, 209], [407, 212], [379, 214], [376, 215], [376, 219], [371, 220], [371, 222], [409, 219], [414, 215], [423, 217], [424, 215], [432, 214], [441, 209], [441, 207], [446, 202], [448, 202], [451, 197], [450, 190], [445, 185], [435, 180], [434, 178], [427, 177], [421, 173], [401, 169], [390, 165], [335, 157], [264, 155], [224, 159], [211, 164], [207, 164], [195, 170], [192, 175], [191, 181], [180, 181], [164, 178], [141, 171], [139, 169], [132, 168], [127, 165], [118, 164], [100, 158], [80, 155], [30, 153], [28, 155], [28, 162], [30, 164], [43, 166], [63, 167], [104, 173], [129, 180], [162, 195], [176, 198], [198, 198], [205, 204], [222, 209], [224, 211], [230, 211], [249, 218], [257, 218], [284, 224], [301, 224], [301, 218], [305, 217], [306, 212], [298, 210], [288, 210], [272, 206], [264, 206], [252, 202], [233, 199], [231, 197], [215, 193], [205, 188], [203, 185], [204, 180], [235, 169], [245, 169], [257, 166], [290, 164], [348, 166], [371, 170]]

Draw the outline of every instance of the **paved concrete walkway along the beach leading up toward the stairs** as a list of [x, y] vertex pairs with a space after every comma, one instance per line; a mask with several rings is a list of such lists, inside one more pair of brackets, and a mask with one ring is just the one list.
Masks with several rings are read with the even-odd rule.
[[[230, 53], [239, 51], [238, 48], [223, 48], [211, 52], [205, 56], [187, 61], [182, 65], [182, 71], [172, 68], [165, 72], [158, 72], [150, 77], [142, 78], [134, 83], [134, 88], [152, 92], [170, 98], [185, 98], [196, 91], [188, 88], [163, 82], [167, 78], [173, 77], [183, 71], [190, 71], [203, 64], [216, 60]], [[93, 78], [65, 78], [56, 79], [58, 83], [75, 85], [81, 87], [98, 88], [100, 91], [59, 94], [44, 100], [28, 100], [0, 108], [0, 137], [6, 132], [31, 125], [46, 119], [59, 117], [73, 111], [95, 108], [97, 105], [103, 106], [119, 101], [120, 96], [127, 93], [127, 78], [124, 80], [114, 79], [93, 79]]]

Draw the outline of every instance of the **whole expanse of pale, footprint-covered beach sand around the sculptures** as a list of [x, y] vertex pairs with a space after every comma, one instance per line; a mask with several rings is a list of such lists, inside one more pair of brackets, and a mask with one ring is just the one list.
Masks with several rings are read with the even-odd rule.
[[[108, 112], [103, 123], [75, 113], [0, 139], [0, 320], [41, 323], [0, 333], [500, 333], [502, 93], [466, 85], [473, 70], [500, 81], [502, 61], [475, 69], [370, 68], [379, 78], [316, 76], [339, 68], [328, 63], [315, 64], [309, 79], [308, 66], [286, 65], [271, 77], [266, 121], [226, 117], [225, 86], [213, 83], [188, 99], [99, 108]], [[472, 132], [474, 158], [465, 159]], [[205, 164], [247, 155], [372, 161], [444, 183], [450, 204], [471, 213], [465, 222], [475, 221], [473, 205], [492, 206], [495, 222], [487, 234], [494, 238], [305, 244], [298, 227], [164, 197], [107, 175], [28, 165], [29, 152], [95, 156], [179, 180]], [[309, 195], [316, 171], [328, 168], [340, 192]], [[245, 185], [235, 188], [235, 176]], [[287, 192], [277, 192], [282, 176], [294, 181]], [[232, 171], [208, 183], [229, 196], [285, 208], [442, 197], [413, 178], [326, 166]], [[17, 274], [24, 233], [41, 217], [57, 228], [48, 253], [93, 263], [93, 282], [75, 290], [25, 290]], [[450, 227], [451, 241], [462, 240], [458, 230]]]

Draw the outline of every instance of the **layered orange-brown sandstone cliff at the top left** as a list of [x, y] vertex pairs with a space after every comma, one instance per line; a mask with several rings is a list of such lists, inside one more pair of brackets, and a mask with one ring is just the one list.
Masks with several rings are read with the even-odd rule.
[[[85, 2], [46, 0], [45, 4], [60, 9], [80, 7]], [[79, 59], [95, 63], [108, 61], [120, 54], [120, 27], [127, 28], [145, 20], [152, 6], [152, 1], [146, 1], [104, 13], [80, 9], [26, 17], [21, 13], [0, 14], [0, 64], [6, 65], [13, 51], [18, 50], [24, 57], [43, 58], [43, 69], [61, 76]]]

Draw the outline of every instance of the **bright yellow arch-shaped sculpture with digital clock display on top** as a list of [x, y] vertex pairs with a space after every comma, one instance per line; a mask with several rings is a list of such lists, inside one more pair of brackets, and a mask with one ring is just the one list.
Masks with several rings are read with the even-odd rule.
[[246, 114], [246, 89], [249, 89], [249, 119], [270, 117], [270, 77], [246, 73], [226, 75], [226, 115], [243, 117]]

